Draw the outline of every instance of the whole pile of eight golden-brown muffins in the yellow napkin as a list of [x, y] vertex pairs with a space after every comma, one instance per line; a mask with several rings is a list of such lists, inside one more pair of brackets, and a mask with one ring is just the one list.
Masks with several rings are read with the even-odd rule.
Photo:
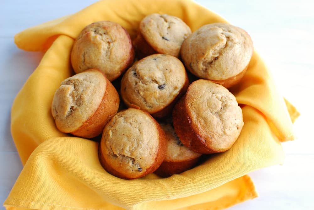
[[151, 14], [132, 42], [119, 24], [95, 22], [74, 42], [76, 74], [56, 90], [52, 116], [62, 132], [101, 135], [100, 163], [112, 175], [179, 174], [240, 135], [242, 111], [227, 88], [252, 53], [250, 36], [225, 23], [192, 33], [177, 17]]

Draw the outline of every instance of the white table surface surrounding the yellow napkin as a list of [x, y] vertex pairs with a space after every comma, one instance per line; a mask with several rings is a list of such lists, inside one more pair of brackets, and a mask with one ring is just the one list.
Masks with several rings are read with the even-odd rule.
[[[0, 203], [8, 196], [23, 167], [10, 133], [11, 105], [42, 56], [40, 52], [18, 49], [13, 37], [21, 30], [75, 13], [93, 2], [1, 0]], [[301, 113], [294, 125], [297, 139], [283, 143], [284, 165], [251, 173], [259, 197], [230, 209], [314, 209], [313, 1], [196, 2], [252, 36], [254, 46], [268, 65], [279, 90]]]

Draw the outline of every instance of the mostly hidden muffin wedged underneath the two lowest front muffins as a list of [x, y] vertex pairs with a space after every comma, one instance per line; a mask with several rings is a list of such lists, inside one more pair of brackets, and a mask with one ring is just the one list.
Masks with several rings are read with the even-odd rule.
[[167, 152], [164, 161], [155, 171], [155, 174], [168, 177], [191, 169], [202, 154], [184, 146], [171, 124], [161, 123], [160, 126], [165, 131]]

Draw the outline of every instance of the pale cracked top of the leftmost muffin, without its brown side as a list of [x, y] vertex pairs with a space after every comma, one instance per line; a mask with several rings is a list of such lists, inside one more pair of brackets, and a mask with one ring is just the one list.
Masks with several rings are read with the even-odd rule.
[[89, 69], [62, 81], [51, 105], [58, 129], [70, 133], [81, 127], [99, 107], [106, 87], [105, 76], [96, 69]]

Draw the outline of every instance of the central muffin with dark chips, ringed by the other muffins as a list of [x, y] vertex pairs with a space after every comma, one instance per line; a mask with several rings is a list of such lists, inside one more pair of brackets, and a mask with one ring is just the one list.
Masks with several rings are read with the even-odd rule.
[[165, 54], [143, 58], [121, 80], [121, 96], [128, 107], [138, 107], [154, 117], [171, 115], [177, 99], [188, 87], [181, 61]]

